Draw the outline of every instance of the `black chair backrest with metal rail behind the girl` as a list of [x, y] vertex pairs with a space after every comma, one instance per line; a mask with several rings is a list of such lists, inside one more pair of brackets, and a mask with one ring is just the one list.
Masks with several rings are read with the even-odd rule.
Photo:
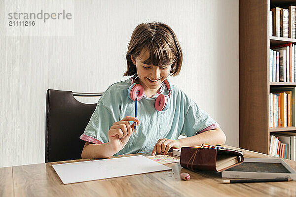
[[45, 163], [81, 159], [85, 141], [79, 137], [97, 104], [81, 103], [74, 96], [97, 97], [102, 94], [47, 90]]

